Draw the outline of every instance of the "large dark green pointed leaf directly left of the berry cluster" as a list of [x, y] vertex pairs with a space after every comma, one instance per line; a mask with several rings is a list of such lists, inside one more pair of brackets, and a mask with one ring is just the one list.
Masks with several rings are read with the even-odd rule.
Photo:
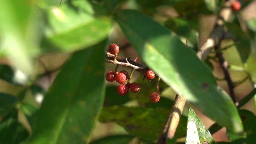
[[106, 41], [74, 53], [45, 95], [31, 144], [88, 143], [105, 93]]

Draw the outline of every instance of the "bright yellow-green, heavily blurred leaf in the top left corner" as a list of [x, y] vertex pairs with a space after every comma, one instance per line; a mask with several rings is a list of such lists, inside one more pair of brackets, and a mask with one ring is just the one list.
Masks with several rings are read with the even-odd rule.
[[[24, 0], [0, 1], [0, 55], [6, 56], [18, 69], [33, 74], [33, 58], [38, 55], [36, 10]], [[4, 14], [3, 14], [4, 13]]]

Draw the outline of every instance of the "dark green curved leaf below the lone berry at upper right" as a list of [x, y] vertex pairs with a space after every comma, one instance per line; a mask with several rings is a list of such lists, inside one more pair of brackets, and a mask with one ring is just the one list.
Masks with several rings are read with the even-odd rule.
[[250, 54], [250, 38], [249, 36], [244, 33], [241, 27], [226, 22], [225, 23], [226, 27], [228, 27], [229, 33], [231, 33], [235, 38], [238, 40], [239, 44], [236, 45], [237, 50], [239, 52], [239, 55], [241, 57], [241, 60], [243, 63], [247, 61], [247, 58], [249, 57]]

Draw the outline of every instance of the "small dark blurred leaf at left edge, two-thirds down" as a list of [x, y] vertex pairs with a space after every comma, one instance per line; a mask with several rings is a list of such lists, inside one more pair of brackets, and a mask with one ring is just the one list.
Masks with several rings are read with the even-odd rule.
[[14, 96], [0, 93], [0, 117], [9, 113], [16, 102], [17, 99]]

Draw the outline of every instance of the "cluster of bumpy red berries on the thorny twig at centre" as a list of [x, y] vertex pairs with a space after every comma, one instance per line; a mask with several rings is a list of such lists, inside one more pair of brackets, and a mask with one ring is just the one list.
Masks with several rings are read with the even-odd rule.
[[[112, 43], [109, 46], [109, 53], [115, 55], [115, 57], [118, 55], [119, 53], [119, 46], [116, 45], [115, 43]], [[152, 80], [155, 78], [155, 73], [152, 70], [148, 70], [145, 74], [145, 78], [148, 80]], [[130, 89], [131, 92], [139, 92], [140, 91], [140, 85], [138, 83], [129, 83], [130, 76], [128, 74], [127, 71], [122, 70], [119, 73], [117, 71], [109, 71], [106, 74], [106, 80], [108, 82], [118, 82], [121, 85], [119, 85], [117, 87], [117, 93], [119, 95], [126, 95]], [[128, 80], [127, 84], [124, 84], [126, 82], [126, 80]], [[160, 94], [159, 92], [153, 92], [150, 95], [150, 101], [152, 102], [158, 102], [160, 99]]]

